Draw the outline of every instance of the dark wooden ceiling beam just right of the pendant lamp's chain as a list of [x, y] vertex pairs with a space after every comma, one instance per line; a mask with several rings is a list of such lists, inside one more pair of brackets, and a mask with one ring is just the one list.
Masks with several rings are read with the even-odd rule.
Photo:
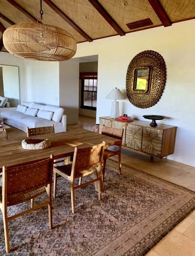
[[59, 7], [54, 4], [51, 0], [43, 0], [47, 5], [49, 5], [52, 10], [54, 10], [64, 21], [69, 23], [82, 37], [84, 37], [87, 41], [92, 42], [93, 39], [88, 36], [76, 23], [74, 23], [64, 12], [62, 12]]

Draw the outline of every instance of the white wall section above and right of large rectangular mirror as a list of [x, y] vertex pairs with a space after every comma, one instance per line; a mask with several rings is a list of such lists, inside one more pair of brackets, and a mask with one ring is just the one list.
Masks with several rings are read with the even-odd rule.
[[26, 99], [25, 59], [16, 57], [10, 54], [9, 52], [0, 51], [0, 64], [19, 67], [20, 101], [25, 100]]

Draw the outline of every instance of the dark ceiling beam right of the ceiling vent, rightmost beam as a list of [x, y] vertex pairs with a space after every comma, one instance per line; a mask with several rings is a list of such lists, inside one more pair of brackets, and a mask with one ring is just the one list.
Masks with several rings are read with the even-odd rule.
[[154, 11], [156, 12], [156, 15], [160, 19], [163, 26], [171, 26], [172, 22], [170, 21], [168, 15], [166, 14], [159, 0], [148, 0], [148, 1], [150, 5], [153, 7]]

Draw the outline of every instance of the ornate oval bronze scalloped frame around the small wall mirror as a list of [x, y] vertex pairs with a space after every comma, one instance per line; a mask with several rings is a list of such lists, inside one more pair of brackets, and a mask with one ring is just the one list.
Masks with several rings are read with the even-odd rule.
[[[146, 90], [136, 90], [137, 70], [148, 69]], [[126, 93], [129, 101], [138, 108], [154, 106], [162, 96], [166, 84], [166, 64], [156, 51], [145, 50], [130, 62], [126, 75]]]

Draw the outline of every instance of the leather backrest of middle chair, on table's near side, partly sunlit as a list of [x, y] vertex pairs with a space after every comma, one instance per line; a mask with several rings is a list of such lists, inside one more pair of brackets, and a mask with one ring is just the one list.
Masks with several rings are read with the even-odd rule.
[[105, 142], [87, 148], [75, 148], [72, 171], [75, 173], [103, 162]]

